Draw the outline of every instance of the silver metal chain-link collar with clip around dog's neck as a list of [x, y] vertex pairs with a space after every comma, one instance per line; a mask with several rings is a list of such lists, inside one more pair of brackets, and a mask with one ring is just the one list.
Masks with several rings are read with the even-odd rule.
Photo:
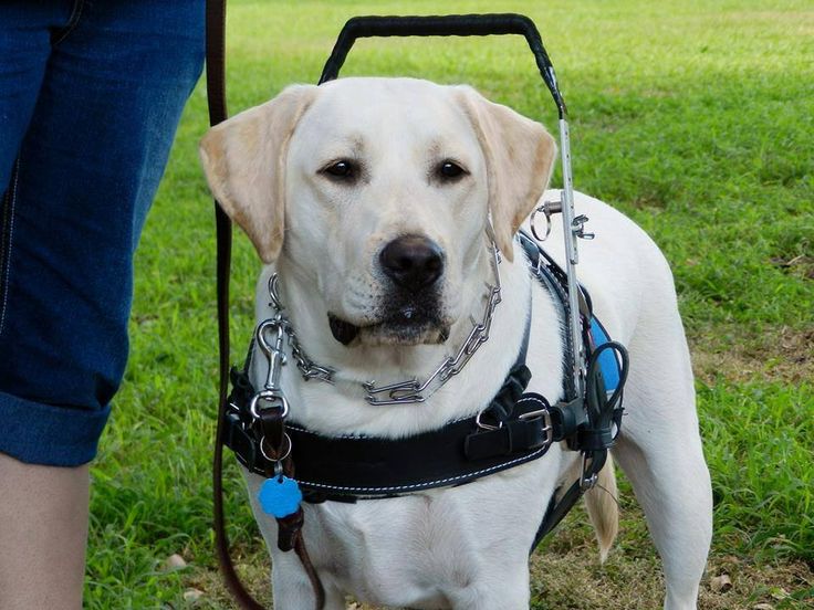
[[[409, 404], [424, 402], [449, 379], [458, 375], [478, 348], [489, 339], [489, 332], [494, 317], [494, 309], [501, 302], [501, 284], [500, 284], [500, 253], [494, 243], [491, 244], [490, 263], [494, 273], [494, 284], [487, 283], [487, 303], [483, 308], [483, 316], [480, 322], [470, 317], [472, 329], [461, 344], [455, 356], [447, 356], [435, 371], [424, 381], [417, 378], [407, 379], [378, 386], [375, 380], [356, 382], [361, 386], [365, 400], [371, 404]], [[280, 367], [284, 364], [284, 353], [282, 346], [283, 334], [289, 339], [291, 355], [293, 356], [296, 368], [300, 370], [303, 379], [316, 379], [327, 383], [335, 383], [340, 380], [337, 370], [319, 365], [303, 349], [300, 340], [294, 332], [291, 320], [284, 314], [285, 306], [280, 298], [280, 278], [276, 273], [269, 277], [269, 305], [274, 311], [274, 315], [261, 322], [255, 330], [257, 345], [262, 349], [269, 358], [269, 371], [265, 382], [265, 391], [273, 391], [282, 396], [279, 386]], [[269, 341], [269, 335], [273, 333], [273, 341]], [[262, 393], [262, 392], [261, 392]], [[284, 399], [283, 399], [284, 400]]]

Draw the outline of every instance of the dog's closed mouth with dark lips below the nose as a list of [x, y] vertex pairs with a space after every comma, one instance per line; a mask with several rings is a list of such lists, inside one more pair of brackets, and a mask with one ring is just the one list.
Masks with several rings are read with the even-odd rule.
[[449, 324], [420, 307], [405, 305], [382, 322], [357, 326], [335, 314], [327, 314], [334, 339], [351, 345], [355, 339], [367, 345], [439, 344], [449, 338]]

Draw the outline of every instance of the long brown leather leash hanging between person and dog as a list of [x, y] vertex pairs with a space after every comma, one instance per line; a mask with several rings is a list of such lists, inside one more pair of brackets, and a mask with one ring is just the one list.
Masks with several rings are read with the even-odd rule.
[[[207, 102], [209, 124], [218, 125], [228, 117], [226, 103], [226, 0], [206, 0], [206, 57], [207, 57]], [[215, 221], [218, 243], [217, 293], [218, 293], [218, 351], [220, 362], [218, 395], [218, 427], [215, 437], [215, 458], [212, 460], [212, 505], [215, 546], [227, 588], [243, 610], [264, 610], [240, 581], [234, 564], [229, 555], [229, 539], [223, 515], [223, 421], [229, 400], [229, 273], [232, 251], [232, 227], [229, 217], [215, 201]], [[293, 465], [289, 462], [286, 470]], [[325, 603], [325, 592], [311, 562], [302, 536], [302, 508], [279, 519], [280, 545], [296, 553], [311, 581], [316, 598], [316, 609]]]

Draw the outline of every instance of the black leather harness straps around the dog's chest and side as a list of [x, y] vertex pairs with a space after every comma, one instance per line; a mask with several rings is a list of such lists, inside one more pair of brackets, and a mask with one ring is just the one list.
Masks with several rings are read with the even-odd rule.
[[[555, 295], [563, 308], [567, 307], [564, 272], [534, 240], [523, 233], [519, 239], [532, 274]], [[284, 430], [289, 437], [286, 451], [290, 450], [294, 477], [304, 499], [311, 503], [356, 502], [462, 485], [536, 460], [545, 454], [553, 442], [567, 441], [571, 449], [585, 453], [591, 467], [577, 482], [578, 490], [571, 491], [570, 495], [566, 493], [567, 498], [564, 499], [570, 502], [567, 507], [550, 507], [546, 520], [541, 525], [542, 534], [539, 537], [542, 538], [555, 525], [549, 522], [555, 517], [559, 522], [578, 499], [585, 488], [585, 478], [591, 480], [602, 469], [606, 451], [613, 444], [622, 422], [622, 385], [615, 392], [617, 398], [608, 404], [602, 371], [591, 371], [589, 361], [597, 349], [587, 324], [591, 319], [587, 293], [581, 298], [581, 309], [588, 354], [586, 381], [594, 386], [593, 389], [588, 388], [588, 395], [605, 399], [601, 425], [592, 423], [587, 400], [578, 396], [575, 388], [568, 387], [570, 377], [565, 374], [566, 398], [554, 406], [538, 393], [524, 392], [531, 379], [525, 366], [529, 322], [512, 369], [497, 396], [478, 417], [456, 420], [438, 430], [405, 439], [324, 437], [298, 423], [285, 422]], [[261, 451], [262, 427], [252, 425], [253, 416], [249, 410], [251, 398], [255, 395], [255, 388], [249, 379], [252, 351], [250, 348], [243, 370], [231, 371], [233, 389], [223, 422], [225, 443], [247, 469], [268, 476], [274, 463]], [[624, 376], [625, 361], [619, 359], [618, 364]]]

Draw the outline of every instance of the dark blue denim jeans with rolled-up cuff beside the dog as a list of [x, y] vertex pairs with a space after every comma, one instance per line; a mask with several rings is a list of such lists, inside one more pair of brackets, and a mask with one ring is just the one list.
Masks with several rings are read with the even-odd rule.
[[0, 2], [0, 452], [91, 461], [204, 0]]

